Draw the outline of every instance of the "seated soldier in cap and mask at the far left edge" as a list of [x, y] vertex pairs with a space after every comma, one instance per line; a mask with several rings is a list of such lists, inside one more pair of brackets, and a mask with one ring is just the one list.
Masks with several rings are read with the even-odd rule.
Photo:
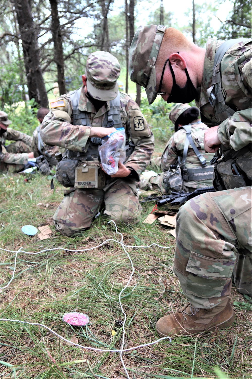
[[[31, 149], [32, 138], [25, 133], [8, 128], [11, 121], [8, 114], [0, 111], [0, 171], [19, 172], [25, 168], [29, 158], [34, 158]], [[5, 141], [15, 141], [5, 146]]]

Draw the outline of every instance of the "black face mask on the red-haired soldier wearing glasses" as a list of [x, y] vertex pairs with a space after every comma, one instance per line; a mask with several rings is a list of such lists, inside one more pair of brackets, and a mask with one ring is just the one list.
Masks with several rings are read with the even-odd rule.
[[[164, 76], [165, 65], [168, 61], [169, 61], [169, 59], [167, 59], [167, 61], [164, 64], [164, 68], [163, 68], [163, 72], [162, 72], [162, 76], [161, 76], [161, 80], [160, 80], [160, 84], [159, 84], [158, 94], [164, 94], [165, 95], [165, 93], [160, 92], [160, 90], [161, 90], [162, 80], [163, 80], [163, 76]], [[197, 92], [195, 86], [193, 85], [192, 80], [190, 79], [187, 68], [185, 68], [185, 73], [187, 76], [186, 85], [183, 88], [180, 88], [176, 84], [175, 74], [174, 74], [174, 71], [173, 71], [173, 68], [172, 68], [170, 61], [169, 61], [169, 66], [170, 66], [170, 70], [172, 73], [173, 86], [172, 86], [172, 91], [170, 93], [170, 96], [168, 97], [167, 103], [168, 104], [169, 103], [183, 103], [183, 104], [190, 103], [193, 99], [195, 99], [198, 92]]]

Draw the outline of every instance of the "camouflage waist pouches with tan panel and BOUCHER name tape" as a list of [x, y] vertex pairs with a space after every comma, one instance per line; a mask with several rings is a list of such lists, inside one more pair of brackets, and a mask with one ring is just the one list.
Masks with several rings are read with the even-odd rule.
[[80, 161], [66, 156], [57, 165], [56, 179], [64, 187], [75, 188], [102, 189], [106, 182], [99, 161]]

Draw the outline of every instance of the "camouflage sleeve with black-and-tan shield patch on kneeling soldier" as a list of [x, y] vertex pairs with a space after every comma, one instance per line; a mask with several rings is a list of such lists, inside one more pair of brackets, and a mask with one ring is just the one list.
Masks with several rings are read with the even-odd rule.
[[130, 96], [121, 97], [121, 107], [125, 112], [127, 133], [135, 145], [125, 166], [138, 174], [137, 180], [139, 181], [141, 172], [150, 163], [154, 151], [154, 136], [139, 106]]

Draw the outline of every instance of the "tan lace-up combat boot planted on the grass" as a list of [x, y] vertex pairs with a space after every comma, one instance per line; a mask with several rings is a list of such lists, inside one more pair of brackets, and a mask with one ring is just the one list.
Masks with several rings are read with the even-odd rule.
[[211, 309], [195, 308], [191, 303], [171, 315], [161, 317], [156, 323], [156, 331], [162, 337], [191, 335], [230, 326], [235, 319], [229, 300]]

